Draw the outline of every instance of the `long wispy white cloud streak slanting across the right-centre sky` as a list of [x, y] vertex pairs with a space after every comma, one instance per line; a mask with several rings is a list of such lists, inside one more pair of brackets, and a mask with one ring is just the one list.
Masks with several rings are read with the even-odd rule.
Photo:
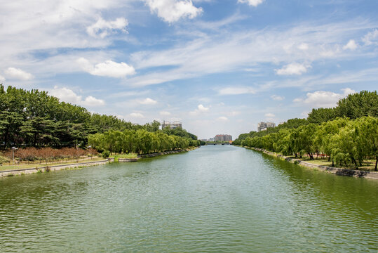
[[[192, 36], [194, 39], [178, 41], [168, 49], [132, 54], [131, 62], [138, 70], [169, 67], [143, 72], [145, 74], [128, 79], [127, 85], [146, 86], [201, 77], [205, 74], [244, 70], [247, 66], [257, 66], [257, 69], [264, 70], [260, 65], [303, 64], [342, 57], [346, 51], [342, 50], [340, 41], [345, 37], [355, 36], [366, 27], [367, 25], [359, 25], [356, 22], [339, 22], [327, 25], [303, 23], [289, 29], [268, 27], [264, 30], [243, 32], [220, 30], [216, 35], [202, 32], [187, 34], [180, 31], [178, 34], [183, 33], [184, 37]], [[311, 41], [309, 49], [305, 52], [297, 48], [303, 41]], [[295, 50], [290, 50], [290, 53], [284, 51], [283, 45], [286, 44], [292, 44]], [[304, 67], [307, 70], [307, 67], [311, 66]]]

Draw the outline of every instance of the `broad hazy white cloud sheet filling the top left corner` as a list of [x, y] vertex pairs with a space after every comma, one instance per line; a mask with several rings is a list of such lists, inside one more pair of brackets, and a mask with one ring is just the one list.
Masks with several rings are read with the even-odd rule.
[[[25, 63], [25, 55], [39, 50], [65, 55], [69, 50], [56, 52], [55, 49], [104, 48], [112, 41], [91, 37], [86, 27], [93, 24], [99, 13], [109, 13], [114, 8], [119, 10], [126, 6], [130, 6], [130, 1], [34, 0], [22, 1], [22, 4], [1, 1], [0, 47], [7, 50], [1, 51], [0, 57], [8, 62]], [[127, 15], [128, 8], [123, 13]], [[34, 57], [29, 57], [29, 64], [34, 66]], [[39, 57], [37, 59], [40, 60]]]

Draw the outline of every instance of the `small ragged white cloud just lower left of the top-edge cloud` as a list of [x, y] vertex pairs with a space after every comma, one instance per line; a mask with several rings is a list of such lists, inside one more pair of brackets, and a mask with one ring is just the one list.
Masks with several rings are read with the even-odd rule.
[[115, 30], [121, 32], [127, 32], [128, 20], [126, 18], [117, 18], [113, 21], [103, 20], [99, 18], [93, 25], [87, 27], [87, 33], [92, 37], [104, 38], [107, 35], [112, 34]]

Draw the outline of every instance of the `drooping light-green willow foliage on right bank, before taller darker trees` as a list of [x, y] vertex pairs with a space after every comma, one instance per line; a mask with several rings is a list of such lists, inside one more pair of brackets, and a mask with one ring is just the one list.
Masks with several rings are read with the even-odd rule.
[[377, 169], [378, 118], [337, 118], [320, 125], [311, 123], [262, 137], [247, 137], [241, 145], [296, 157], [307, 154], [310, 160], [315, 154], [324, 154], [340, 167], [358, 168], [363, 160], [375, 159]]

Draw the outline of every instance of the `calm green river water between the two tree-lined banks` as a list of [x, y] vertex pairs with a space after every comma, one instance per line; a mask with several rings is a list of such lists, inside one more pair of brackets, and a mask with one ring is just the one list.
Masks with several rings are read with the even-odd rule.
[[233, 146], [0, 179], [0, 252], [378, 252], [378, 182]]

